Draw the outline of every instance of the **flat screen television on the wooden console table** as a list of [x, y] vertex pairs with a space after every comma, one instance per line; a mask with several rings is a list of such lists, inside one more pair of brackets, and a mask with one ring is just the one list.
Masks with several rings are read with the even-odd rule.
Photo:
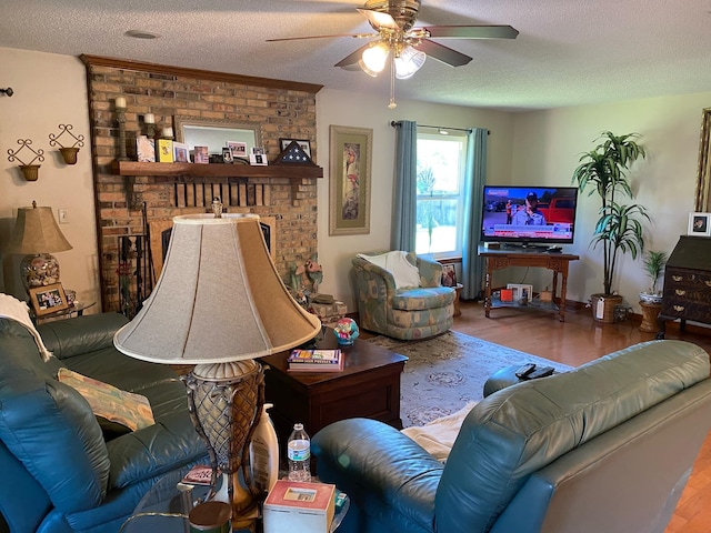
[[485, 185], [481, 240], [520, 247], [573, 242], [577, 187]]

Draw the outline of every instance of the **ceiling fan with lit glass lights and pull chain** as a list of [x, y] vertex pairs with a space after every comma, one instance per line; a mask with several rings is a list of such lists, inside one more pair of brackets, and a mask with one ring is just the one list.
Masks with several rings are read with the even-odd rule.
[[[350, 53], [336, 67], [346, 70], [360, 68], [370, 76], [378, 76], [390, 59], [391, 93], [394, 78], [411, 78], [431, 57], [450, 67], [461, 67], [472, 58], [430, 39], [515, 39], [518, 30], [510, 26], [429, 26], [415, 27], [420, 12], [420, 0], [368, 0], [361, 13], [377, 33], [343, 33], [336, 36], [310, 36], [267, 41], [294, 41], [303, 39], [324, 39], [352, 37], [357, 39], [377, 39]], [[390, 107], [394, 108], [391, 95]]]

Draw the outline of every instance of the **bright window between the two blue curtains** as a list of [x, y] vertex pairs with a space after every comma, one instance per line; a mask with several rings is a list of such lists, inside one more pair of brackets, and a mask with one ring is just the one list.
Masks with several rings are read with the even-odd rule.
[[418, 254], [461, 257], [467, 137], [418, 131]]

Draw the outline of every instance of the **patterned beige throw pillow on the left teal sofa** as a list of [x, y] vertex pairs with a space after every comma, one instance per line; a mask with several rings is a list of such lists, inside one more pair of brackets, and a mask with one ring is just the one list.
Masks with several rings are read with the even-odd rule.
[[146, 396], [122, 391], [113, 385], [88, 378], [69, 369], [60, 369], [57, 379], [77, 390], [91, 405], [99, 423], [113, 433], [117, 424], [131, 431], [153, 425], [153, 412]]

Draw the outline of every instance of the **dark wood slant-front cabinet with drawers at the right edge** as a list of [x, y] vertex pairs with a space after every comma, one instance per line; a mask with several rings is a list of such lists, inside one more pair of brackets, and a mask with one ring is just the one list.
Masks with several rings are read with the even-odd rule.
[[660, 332], [669, 320], [711, 324], [711, 239], [682, 235], [667, 261]]

